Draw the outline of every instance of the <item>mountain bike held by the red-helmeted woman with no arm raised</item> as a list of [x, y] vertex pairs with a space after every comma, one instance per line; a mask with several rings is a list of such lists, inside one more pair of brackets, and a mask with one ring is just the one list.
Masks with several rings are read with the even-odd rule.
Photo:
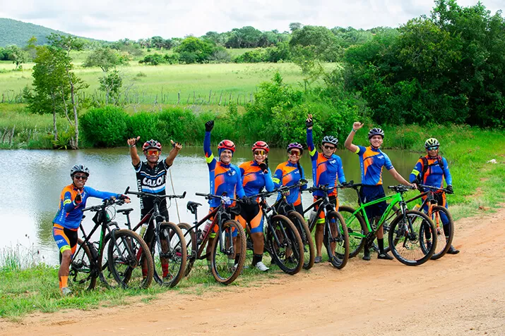
[[[284, 189], [283, 189], [284, 188]], [[275, 206], [270, 206], [267, 198], [277, 194], [279, 190], [287, 190], [281, 187], [271, 192], [261, 192], [249, 199], [260, 199], [259, 205], [265, 225], [263, 225], [265, 237], [265, 251], [270, 254], [273, 261], [284, 273], [295, 275], [304, 266], [304, 243], [295, 224], [287, 216], [280, 215]], [[249, 223], [247, 225], [250, 231]], [[249, 249], [253, 249], [252, 239], [248, 239]]]

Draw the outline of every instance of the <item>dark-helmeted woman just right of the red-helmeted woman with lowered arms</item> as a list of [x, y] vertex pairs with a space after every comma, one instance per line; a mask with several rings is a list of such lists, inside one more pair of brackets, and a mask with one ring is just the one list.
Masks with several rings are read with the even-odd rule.
[[[275, 188], [296, 185], [300, 180], [305, 180], [304, 170], [300, 166], [300, 157], [303, 154], [303, 147], [298, 142], [292, 142], [287, 146], [287, 161], [279, 163], [273, 173], [273, 185]], [[307, 185], [303, 185], [302, 189], [307, 189]], [[280, 195], [279, 195], [280, 197]], [[300, 215], [303, 216], [302, 193], [300, 187], [295, 187], [289, 190], [286, 196], [286, 201], [295, 207]]]

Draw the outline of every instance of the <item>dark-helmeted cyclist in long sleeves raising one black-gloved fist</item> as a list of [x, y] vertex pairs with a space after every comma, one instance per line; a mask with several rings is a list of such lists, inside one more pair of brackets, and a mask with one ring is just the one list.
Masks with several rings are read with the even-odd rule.
[[[338, 198], [337, 198], [337, 180], [340, 183], [345, 182], [345, 175], [342, 166], [342, 159], [340, 156], [335, 155], [337, 150], [338, 139], [332, 137], [331, 135], [326, 135], [321, 141], [322, 153], [318, 153], [316, 147], [314, 146], [314, 139], [312, 138], [312, 126], [314, 122], [312, 121], [312, 115], [307, 116], [305, 122], [307, 126], [307, 146], [309, 147], [310, 159], [312, 162], [312, 179], [314, 180], [314, 187], [319, 185], [328, 185], [329, 188], [333, 188], [331, 192], [328, 193], [330, 201], [335, 205], [335, 210], [338, 211]], [[316, 190], [313, 193], [314, 201], [323, 197], [323, 192]], [[316, 209], [317, 210], [317, 209]], [[323, 258], [321, 256], [321, 247], [323, 245], [323, 224], [324, 224], [324, 212], [321, 211], [319, 219], [316, 225], [316, 258], [314, 263], [320, 263]]]

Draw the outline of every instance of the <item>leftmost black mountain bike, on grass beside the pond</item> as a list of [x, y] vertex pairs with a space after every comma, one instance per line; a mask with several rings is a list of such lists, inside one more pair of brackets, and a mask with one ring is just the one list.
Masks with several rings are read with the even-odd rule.
[[[112, 221], [114, 206], [122, 204], [124, 201], [120, 199], [105, 199], [100, 205], [83, 209], [95, 212], [95, 226], [86, 235], [82, 222], [79, 225], [84, 239], [78, 239], [78, 248], [70, 263], [71, 287], [92, 290], [97, 278], [106, 287], [115, 287], [114, 282], [117, 282], [123, 288], [147, 288], [153, 281], [153, 259], [147, 244], [135, 232], [120, 230]], [[100, 239], [93, 242], [91, 237], [98, 228]], [[142, 263], [145, 274], [141, 272]]]

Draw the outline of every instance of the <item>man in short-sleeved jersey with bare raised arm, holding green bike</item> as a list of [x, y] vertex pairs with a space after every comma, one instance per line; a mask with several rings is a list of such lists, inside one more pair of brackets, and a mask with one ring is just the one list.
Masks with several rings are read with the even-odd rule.
[[[415, 185], [410, 184], [407, 180], [405, 180], [400, 173], [396, 171], [391, 163], [389, 157], [381, 151], [382, 142], [384, 142], [384, 131], [380, 128], [372, 128], [368, 132], [368, 140], [370, 142], [369, 147], [357, 146], [352, 144], [352, 140], [354, 139], [355, 133], [357, 130], [363, 127], [363, 124], [360, 122], [355, 122], [352, 124], [352, 130], [350, 134], [345, 139], [345, 148], [352, 151], [352, 153], [360, 156], [360, 168], [361, 168], [361, 182], [362, 188], [360, 190], [360, 194], [364, 203], [368, 203], [370, 201], [374, 201], [375, 199], [380, 199], [382, 197], [386, 197], [384, 193], [384, 188], [382, 187], [382, 168], [386, 167], [386, 169], [393, 175], [393, 178], [400, 182], [402, 185], [408, 185], [410, 187], [415, 187]], [[379, 202], [378, 204], [374, 204], [372, 206], [367, 206], [365, 211], [367, 211], [367, 216], [372, 223], [374, 218], [376, 218], [376, 222], [379, 221], [381, 216], [386, 211], [388, 205], [386, 201]], [[381, 225], [381, 228], [377, 230], [377, 242], [379, 242], [379, 255], [377, 259], [386, 259], [393, 260], [393, 257], [387, 254], [384, 251], [384, 228]], [[370, 251], [367, 247], [364, 248], [364, 256], [363, 260], [370, 260]]]

